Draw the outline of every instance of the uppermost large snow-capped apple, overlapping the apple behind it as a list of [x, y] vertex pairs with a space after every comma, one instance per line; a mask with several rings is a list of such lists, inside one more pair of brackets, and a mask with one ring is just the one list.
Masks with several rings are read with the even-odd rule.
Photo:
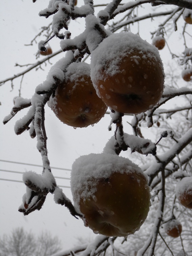
[[107, 106], [138, 114], [162, 97], [163, 63], [158, 49], [138, 35], [112, 34], [91, 52], [91, 80]]

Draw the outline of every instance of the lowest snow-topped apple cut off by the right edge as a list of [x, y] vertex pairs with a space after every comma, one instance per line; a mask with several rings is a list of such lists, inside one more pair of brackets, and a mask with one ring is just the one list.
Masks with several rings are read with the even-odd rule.
[[176, 197], [181, 205], [192, 209], [192, 176], [184, 177], [175, 188]]

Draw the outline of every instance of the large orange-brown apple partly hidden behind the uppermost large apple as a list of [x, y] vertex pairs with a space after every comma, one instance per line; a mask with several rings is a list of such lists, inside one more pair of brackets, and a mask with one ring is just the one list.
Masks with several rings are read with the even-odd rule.
[[81, 62], [68, 66], [65, 80], [48, 105], [61, 122], [73, 127], [94, 125], [107, 110], [91, 82], [89, 64]]

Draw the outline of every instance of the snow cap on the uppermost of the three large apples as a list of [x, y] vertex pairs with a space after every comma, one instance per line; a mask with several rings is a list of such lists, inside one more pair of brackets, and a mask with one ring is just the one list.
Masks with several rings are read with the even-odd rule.
[[[112, 77], [116, 73], [120, 73], [119, 63], [122, 62], [122, 58], [134, 52], [135, 49], [143, 53], [143, 58], [155, 59], [163, 70], [161, 57], [154, 45], [149, 44], [133, 33], [121, 32], [112, 34], [105, 38], [91, 53], [91, 80], [98, 96], [100, 96], [100, 93], [95, 84], [96, 81], [105, 81], [107, 76]], [[105, 69], [105, 72], [102, 72], [107, 63], [110, 63], [110, 65]]]

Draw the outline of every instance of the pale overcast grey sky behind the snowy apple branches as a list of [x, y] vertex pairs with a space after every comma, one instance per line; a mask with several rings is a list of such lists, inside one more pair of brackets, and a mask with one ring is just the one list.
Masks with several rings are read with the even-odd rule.
[[[80, 5], [81, 1], [82, 0], [78, 0], [78, 5]], [[35, 54], [38, 50], [37, 45], [24, 46], [24, 44], [30, 43], [31, 39], [40, 31], [39, 28], [41, 26], [51, 22], [51, 17], [45, 19], [44, 17], [38, 16], [39, 11], [46, 8], [48, 2], [47, 0], [37, 1], [36, 3], [33, 3], [32, 0], [0, 1], [0, 80], [13, 76], [13, 74], [22, 70], [20, 67], [14, 67], [16, 62], [23, 65], [36, 61]], [[102, 0], [97, 0], [97, 3], [103, 2]], [[73, 21], [72, 24], [73, 27], [69, 25], [69, 30], [73, 37], [75, 34], [78, 35], [83, 31], [84, 19]], [[152, 25], [153, 24], [148, 20], [145, 22], [144, 26], [140, 27], [142, 38], [146, 39], [148, 42], [151, 42], [149, 32], [157, 28], [158, 23], [154, 22], [154, 28], [151, 27]], [[137, 26], [133, 28], [133, 32], [137, 32]], [[183, 46], [183, 41], [179, 39], [178, 33], [175, 32], [169, 39], [169, 46], [174, 50], [175, 40], [177, 40], [179, 47]], [[59, 43], [59, 39], [50, 41], [50, 46], [53, 51], [59, 49]], [[164, 63], [168, 62], [168, 58], [171, 60], [167, 47], [165, 47], [160, 54]], [[42, 58], [43, 57], [41, 57], [41, 59]], [[60, 58], [61, 55], [51, 59], [50, 62], [55, 63]], [[50, 64], [47, 64], [47, 66], [42, 65], [42, 67], [44, 71], [33, 70], [24, 76], [21, 90], [21, 96], [23, 98], [31, 98], [35, 92], [35, 87], [46, 79]], [[31, 139], [27, 131], [18, 136], [14, 132], [15, 122], [20, 119], [27, 110], [22, 110], [6, 125], [2, 124], [4, 116], [8, 115], [13, 107], [14, 97], [18, 96], [20, 81], [21, 77], [13, 81], [13, 89], [11, 88], [10, 82], [5, 83], [0, 88], [0, 159], [41, 165], [41, 155], [36, 149], [36, 138]], [[185, 82], [183, 84], [185, 85]], [[108, 139], [114, 134], [114, 127], [111, 132], [107, 130], [110, 123], [109, 115], [105, 115], [105, 118], [98, 124], [95, 124], [94, 127], [77, 128], [75, 130], [72, 127], [62, 124], [48, 107], [46, 107], [45, 111], [48, 157], [50, 165], [53, 167], [71, 169], [73, 161], [80, 155], [102, 152]], [[129, 124], [126, 123], [127, 120], [130, 119], [126, 118], [124, 121], [125, 132], [132, 133]], [[151, 134], [147, 131], [146, 135], [148, 138], [151, 138]], [[126, 156], [129, 154], [130, 152], [123, 153], [123, 155]], [[42, 171], [40, 167], [6, 162], [0, 162], [0, 169], [20, 172], [33, 170], [37, 173], [41, 173]], [[52, 172], [55, 176], [70, 177], [70, 171], [52, 169]], [[3, 171], [0, 171], [0, 178], [22, 180], [21, 174]], [[57, 184], [70, 186], [69, 180], [57, 179]], [[46, 229], [51, 231], [53, 235], [58, 235], [59, 238], [64, 241], [64, 248], [70, 248], [75, 244], [76, 238], [82, 236], [82, 234], [85, 237], [94, 236], [90, 229], [84, 227], [82, 220], [77, 220], [72, 217], [65, 207], [56, 205], [51, 194], [47, 196], [45, 204], [40, 211], [33, 212], [24, 217], [22, 213], [18, 212], [18, 207], [22, 203], [25, 185], [3, 180], [0, 180], [0, 185], [0, 235], [9, 233], [13, 228], [18, 226], [24, 227], [26, 230], [31, 230], [34, 233]], [[72, 199], [69, 188], [63, 188], [63, 191], [67, 197]]]

